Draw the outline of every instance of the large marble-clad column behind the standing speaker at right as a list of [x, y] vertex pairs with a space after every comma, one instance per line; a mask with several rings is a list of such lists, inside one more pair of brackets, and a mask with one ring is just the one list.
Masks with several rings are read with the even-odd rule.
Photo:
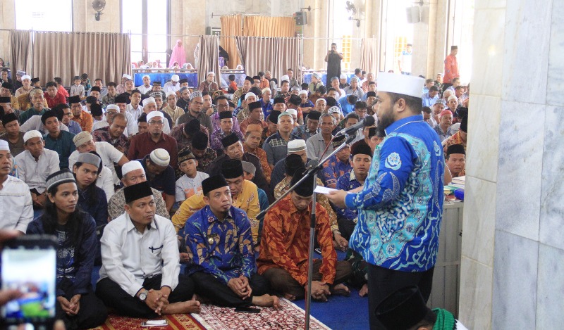
[[476, 0], [459, 319], [564, 324], [564, 2]]

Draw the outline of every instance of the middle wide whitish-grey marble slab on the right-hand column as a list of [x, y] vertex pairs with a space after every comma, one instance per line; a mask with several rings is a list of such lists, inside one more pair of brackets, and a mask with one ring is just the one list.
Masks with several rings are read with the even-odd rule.
[[539, 240], [545, 106], [502, 101], [496, 229]]

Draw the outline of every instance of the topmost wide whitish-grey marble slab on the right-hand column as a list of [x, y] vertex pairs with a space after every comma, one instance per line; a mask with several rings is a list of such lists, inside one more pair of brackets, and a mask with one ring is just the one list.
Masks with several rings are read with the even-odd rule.
[[[544, 104], [552, 0], [508, 1], [505, 12], [503, 99]], [[530, 65], [535, 63], [535, 65]], [[531, 88], [533, 87], [533, 88]]]

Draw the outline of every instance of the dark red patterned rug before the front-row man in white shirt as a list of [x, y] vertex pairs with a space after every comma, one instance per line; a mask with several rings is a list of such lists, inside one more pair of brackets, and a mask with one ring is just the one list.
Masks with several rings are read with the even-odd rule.
[[137, 330], [137, 329], [159, 329], [159, 330], [202, 330], [202, 327], [190, 314], [173, 314], [164, 315], [159, 319], [166, 319], [168, 326], [141, 326], [142, 322], [147, 319], [136, 319], [135, 317], [122, 317], [116, 314], [110, 314], [106, 323], [92, 330]]

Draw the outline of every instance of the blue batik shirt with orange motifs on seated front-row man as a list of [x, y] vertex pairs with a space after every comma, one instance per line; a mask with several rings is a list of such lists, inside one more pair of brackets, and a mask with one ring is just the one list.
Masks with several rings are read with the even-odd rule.
[[251, 277], [255, 268], [251, 223], [240, 208], [231, 206], [226, 219], [219, 221], [206, 205], [188, 218], [178, 234], [195, 264], [187, 269], [189, 275], [206, 272], [224, 284], [240, 275]]

